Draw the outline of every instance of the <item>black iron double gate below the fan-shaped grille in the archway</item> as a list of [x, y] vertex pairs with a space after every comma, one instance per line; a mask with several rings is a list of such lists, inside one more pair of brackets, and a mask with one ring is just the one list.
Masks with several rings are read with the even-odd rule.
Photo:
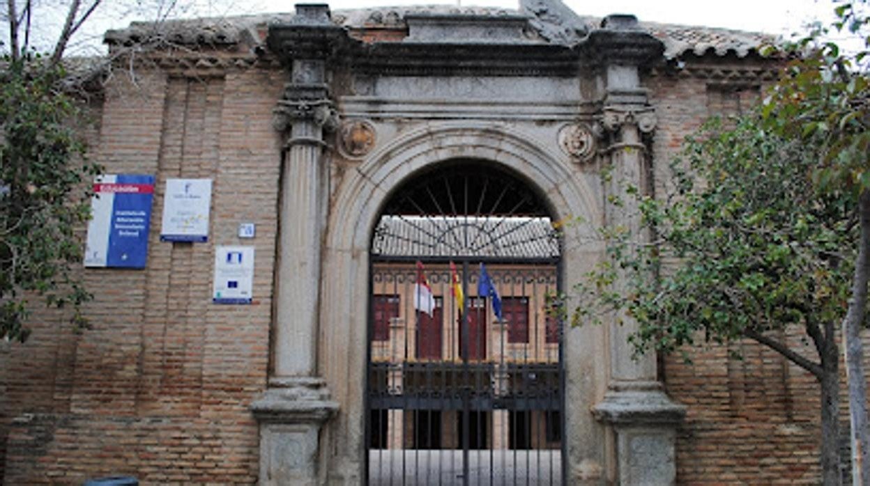
[[[413, 306], [415, 261], [372, 258], [368, 483], [564, 484], [562, 324], [547, 307], [558, 261], [457, 258], [460, 312], [447, 261], [425, 259], [431, 314]], [[500, 321], [477, 295], [481, 261], [502, 299]]]

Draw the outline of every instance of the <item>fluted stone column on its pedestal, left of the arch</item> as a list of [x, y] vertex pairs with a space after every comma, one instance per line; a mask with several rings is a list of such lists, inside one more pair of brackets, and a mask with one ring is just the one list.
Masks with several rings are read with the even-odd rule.
[[[261, 485], [323, 483], [320, 429], [338, 411], [317, 376], [320, 255], [325, 222], [324, 131], [337, 124], [326, 83], [335, 32], [326, 5], [298, 5], [290, 24], [271, 25], [269, 47], [291, 70], [274, 110], [286, 135], [272, 325], [273, 371], [251, 404], [260, 423]], [[289, 42], [288, 42], [289, 41]], [[289, 49], [288, 46], [293, 49]]]

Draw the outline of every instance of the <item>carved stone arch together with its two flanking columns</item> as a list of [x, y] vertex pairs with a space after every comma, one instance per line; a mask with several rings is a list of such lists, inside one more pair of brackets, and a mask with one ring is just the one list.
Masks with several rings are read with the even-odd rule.
[[[378, 103], [384, 100], [370, 100], [366, 110], [344, 110], [343, 115], [346, 121], [375, 118], [366, 122], [371, 122], [372, 137], [366, 139], [374, 151], [354, 159], [358, 163], [327, 163], [324, 133], [338, 125], [336, 100], [327, 85], [327, 57], [348, 39], [331, 22], [324, 5], [299, 6], [298, 14], [300, 23], [270, 30], [269, 45], [291, 67], [291, 83], [274, 110], [276, 128], [288, 136], [271, 336], [273, 370], [269, 389], [251, 409], [261, 423], [261, 482], [358, 484], [365, 470], [361, 397], [368, 251], [392, 188], [448, 159], [490, 161], [522, 175], [545, 197], [556, 218], [577, 216], [592, 227], [625, 226], [642, 242], [645, 236], [636, 231], [635, 210], [605, 210], [605, 194], [623, 196], [624, 184], [601, 183], [593, 163], [580, 167], [569, 162], [570, 156], [556, 150], [554, 123], [579, 118], [586, 131], [575, 134], [582, 140], [566, 150], [580, 159], [610, 164], [612, 180], [647, 187], [648, 135], [656, 118], [640, 85], [639, 66], [659, 56], [661, 43], [637, 30], [633, 17], [608, 17], [606, 28], [597, 30], [586, 44], [600, 60], [587, 73], [599, 88], [588, 99], [584, 96], [591, 103], [570, 110], [570, 117], [520, 117], [514, 120], [520, 123], [502, 123], [485, 121], [501, 118], [487, 117], [484, 111], [447, 115], [438, 110], [438, 102], [431, 105], [432, 115], [441, 113], [453, 121], [435, 122], [438, 117], [408, 119], [404, 112], [382, 117]], [[625, 48], [629, 39], [637, 43], [636, 49]], [[409, 96], [405, 90], [398, 93]], [[352, 105], [350, 101], [344, 108]], [[548, 98], [546, 103], [553, 101]], [[375, 137], [385, 142], [378, 145]], [[597, 149], [586, 154], [581, 149], [592, 147], [592, 137]], [[582, 229], [566, 227], [566, 283], [578, 282], [604, 256], [593, 231]], [[626, 336], [635, 326], [631, 319], [623, 321], [626, 325], [572, 329], [565, 338], [565, 393], [571, 403], [566, 410], [566, 463], [572, 484], [674, 481], [674, 432], [685, 409], [663, 393], [654, 356], [632, 358]], [[288, 457], [283, 451], [289, 445], [302, 452]]]

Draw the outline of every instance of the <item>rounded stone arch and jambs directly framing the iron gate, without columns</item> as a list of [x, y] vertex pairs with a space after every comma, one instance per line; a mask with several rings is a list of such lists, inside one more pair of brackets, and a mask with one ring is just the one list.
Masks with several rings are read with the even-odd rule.
[[[586, 186], [559, 156], [498, 123], [427, 125], [385, 144], [345, 173], [331, 205], [325, 239], [318, 333], [318, 375], [342, 410], [329, 425], [325, 441], [338, 483], [357, 483], [363, 471], [371, 231], [393, 188], [419, 170], [457, 157], [490, 161], [521, 174], [545, 196], [558, 218], [601, 220], [600, 188]], [[584, 238], [581, 231], [576, 226], [566, 229], [563, 276], [569, 283], [601, 255], [600, 246], [589, 243], [592, 238]], [[566, 400], [584, 403], [566, 410], [569, 470], [606, 469], [606, 431], [589, 413], [606, 391], [605, 344], [604, 328], [566, 333]]]

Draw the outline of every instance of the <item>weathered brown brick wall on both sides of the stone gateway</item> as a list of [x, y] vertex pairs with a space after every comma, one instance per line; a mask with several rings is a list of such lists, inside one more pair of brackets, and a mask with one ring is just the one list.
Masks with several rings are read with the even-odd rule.
[[[266, 66], [137, 76], [135, 85], [114, 79], [90, 137], [107, 172], [157, 176], [148, 267], [81, 270], [97, 297], [83, 335], [44, 310], [28, 343], [0, 344], [6, 484], [114, 474], [151, 484], [257, 480], [258, 429], [247, 407], [267, 376], [280, 165], [270, 123], [285, 75]], [[683, 138], [711, 113], [741, 110], [755, 91], [688, 74], [646, 83], [659, 117], [661, 194]], [[213, 179], [209, 243], [158, 240], [164, 182], [178, 176]], [[214, 245], [242, 243], [242, 222], [257, 223], [256, 302], [213, 305]], [[800, 333], [788, 339], [802, 345]], [[691, 364], [663, 361], [668, 392], [688, 405], [679, 483], [817, 483], [813, 377], [759, 345], [733, 346], [743, 360], [712, 346], [686, 350]]]

